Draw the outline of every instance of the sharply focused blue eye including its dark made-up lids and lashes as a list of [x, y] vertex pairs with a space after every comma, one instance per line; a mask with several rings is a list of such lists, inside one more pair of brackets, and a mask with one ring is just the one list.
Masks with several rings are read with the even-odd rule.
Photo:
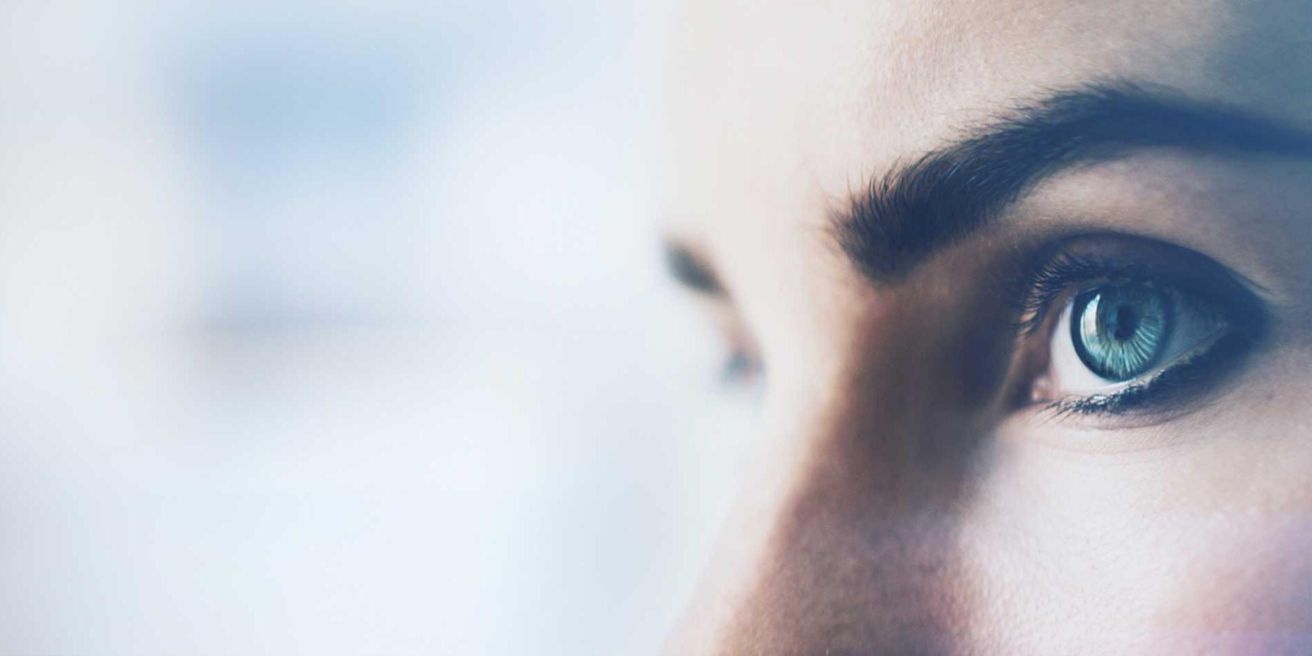
[[1223, 380], [1266, 325], [1265, 303], [1229, 269], [1155, 240], [1078, 237], [1023, 270], [1021, 403], [1059, 413], [1173, 409]]

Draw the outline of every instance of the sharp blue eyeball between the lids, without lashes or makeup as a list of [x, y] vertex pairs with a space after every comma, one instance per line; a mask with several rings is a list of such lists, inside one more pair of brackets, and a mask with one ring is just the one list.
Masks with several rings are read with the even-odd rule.
[[1052, 332], [1052, 392], [1109, 394], [1206, 349], [1224, 315], [1147, 282], [1092, 286], [1071, 298]]

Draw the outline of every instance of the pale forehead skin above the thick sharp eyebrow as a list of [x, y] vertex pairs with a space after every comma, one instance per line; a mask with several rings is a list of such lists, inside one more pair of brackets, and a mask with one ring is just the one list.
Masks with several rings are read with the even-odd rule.
[[773, 192], [785, 189], [841, 194], [1009, 106], [1101, 79], [1307, 125], [1309, 9], [1248, 0], [687, 3], [672, 59], [674, 177], [685, 192], [748, 193], [774, 207]]

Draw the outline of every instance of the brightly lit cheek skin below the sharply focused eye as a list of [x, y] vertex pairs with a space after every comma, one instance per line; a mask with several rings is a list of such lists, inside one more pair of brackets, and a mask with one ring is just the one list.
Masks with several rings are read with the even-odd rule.
[[1000, 443], [962, 534], [964, 569], [987, 590], [977, 639], [1109, 653], [1312, 647], [1312, 458], [1296, 436], [1135, 454]]

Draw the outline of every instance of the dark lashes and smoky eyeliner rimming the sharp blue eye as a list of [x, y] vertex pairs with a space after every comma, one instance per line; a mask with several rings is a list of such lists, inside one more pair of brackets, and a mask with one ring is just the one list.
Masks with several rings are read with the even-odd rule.
[[1224, 314], [1229, 325], [1228, 332], [1206, 349], [1158, 369], [1145, 379], [1132, 382], [1115, 392], [1047, 401], [1044, 409], [1056, 416], [1122, 415], [1153, 409], [1185, 398], [1212, 382], [1225, 366], [1248, 353], [1265, 327], [1266, 314], [1261, 302], [1240, 297], [1240, 294], [1252, 295], [1242, 291], [1233, 279], [1224, 281], [1228, 285], [1221, 287], [1233, 287], [1235, 294], [1218, 294], [1204, 291], [1208, 285], [1200, 283], [1198, 278], [1172, 277], [1166, 272], [1155, 272], [1143, 262], [1090, 257], [1060, 248], [1039, 260], [1036, 266], [1026, 268], [1026, 273], [1010, 282], [1009, 298], [1014, 299], [1015, 306], [1013, 316], [1019, 318], [1013, 325], [1017, 341], [1022, 342], [1039, 333], [1048, 324], [1054, 310], [1059, 310], [1057, 300], [1069, 298], [1067, 294], [1073, 289], [1107, 281], [1152, 282], [1174, 289], [1179, 294], [1200, 298]]

